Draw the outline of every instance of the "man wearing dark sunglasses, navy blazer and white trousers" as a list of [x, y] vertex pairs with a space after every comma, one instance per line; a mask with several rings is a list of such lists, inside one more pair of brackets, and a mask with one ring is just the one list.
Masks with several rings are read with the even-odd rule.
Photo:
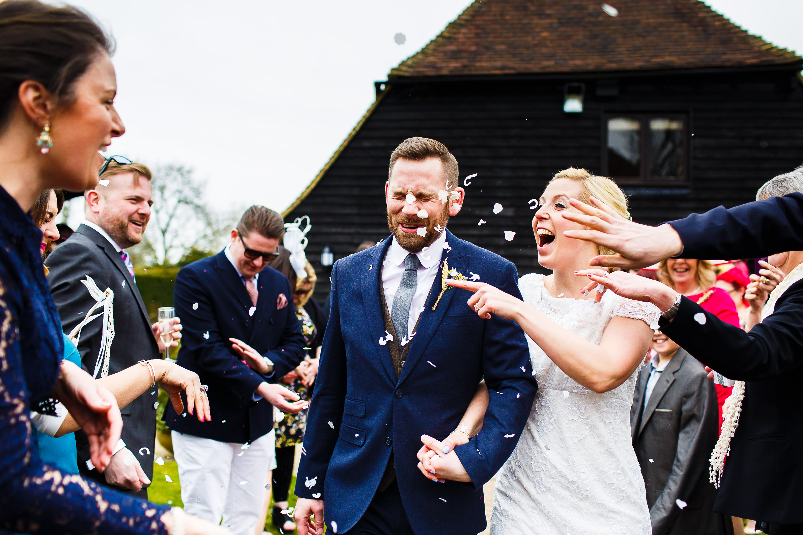
[[[212, 422], [165, 410], [185, 510], [251, 535], [275, 468], [273, 406], [295, 414], [307, 402], [279, 379], [304, 355], [287, 278], [267, 264], [284, 235], [282, 217], [251, 206], [214, 257], [185, 266], [174, 305], [184, 322], [180, 366], [208, 385]], [[289, 399], [289, 400], [288, 400]]]

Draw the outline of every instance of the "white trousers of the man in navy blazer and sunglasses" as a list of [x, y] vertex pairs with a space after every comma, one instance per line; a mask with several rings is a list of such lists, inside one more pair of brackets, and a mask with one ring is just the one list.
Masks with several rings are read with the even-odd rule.
[[218, 524], [234, 535], [254, 535], [265, 499], [267, 472], [276, 468], [273, 430], [247, 449], [171, 432], [186, 513]]

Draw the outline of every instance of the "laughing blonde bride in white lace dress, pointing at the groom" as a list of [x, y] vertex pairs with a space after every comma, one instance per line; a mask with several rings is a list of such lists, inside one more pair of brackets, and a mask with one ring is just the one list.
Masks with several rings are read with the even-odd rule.
[[[468, 304], [480, 317], [498, 314], [524, 329], [539, 385], [527, 427], [496, 478], [491, 535], [651, 533], [630, 441], [630, 405], [660, 311], [612, 292], [583, 292], [589, 260], [611, 252], [565, 237], [564, 230], [582, 227], [561, 214], [576, 211], [570, 198], [589, 197], [629, 217], [613, 180], [585, 169], [557, 173], [532, 220], [538, 261], [552, 274], [520, 278], [524, 302], [487, 284], [450, 282], [475, 292]], [[479, 432], [487, 395], [481, 384], [459, 428], [444, 442], [453, 448]], [[434, 455], [422, 448], [420, 468], [430, 479], [445, 479]]]

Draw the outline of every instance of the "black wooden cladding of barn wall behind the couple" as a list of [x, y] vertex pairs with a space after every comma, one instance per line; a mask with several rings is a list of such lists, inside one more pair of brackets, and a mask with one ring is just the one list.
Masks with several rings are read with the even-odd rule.
[[[563, 111], [567, 82], [586, 83], [582, 113]], [[766, 180], [803, 164], [803, 87], [792, 71], [622, 77], [614, 97], [596, 96], [596, 83], [581, 76], [389, 83], [360, 132], [286, 218], [308, 215], [312, 221], [307, 256], [319, 274], [316, 298], [323, 301], [329, 290], [329, 270], [320, 265], [324, 245], [338, 259], [361, 241], [389, 235], [388, 160], [407, 137], [446, 144], [459, 162], [461, 185], [478, 173], [449, 229], [514, 262], [520, 274], [542, 270], [528, 201], [560, 169], [605, 173], [604, 117], [611, 113], [687, 116], [689, 182], [622, 185], [634, 220], [642, 223], [752, 201]], [[497, 202], [503, 211], [494, 214]], [[481, 218], [487, 223], [479, 226]], [[513, 241], [505, 241], [505, 230], [516, 232]]]

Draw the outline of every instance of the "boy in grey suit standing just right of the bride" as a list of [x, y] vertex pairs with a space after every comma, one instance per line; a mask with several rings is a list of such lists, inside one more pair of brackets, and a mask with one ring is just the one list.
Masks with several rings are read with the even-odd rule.
[[638, 372], [630, 426], [653, 535], [732, 535], [730, 517], [714, 513], [708, 482], [719, 424], [714, 383], [660, 330], [651, 347], [658, 356]]

